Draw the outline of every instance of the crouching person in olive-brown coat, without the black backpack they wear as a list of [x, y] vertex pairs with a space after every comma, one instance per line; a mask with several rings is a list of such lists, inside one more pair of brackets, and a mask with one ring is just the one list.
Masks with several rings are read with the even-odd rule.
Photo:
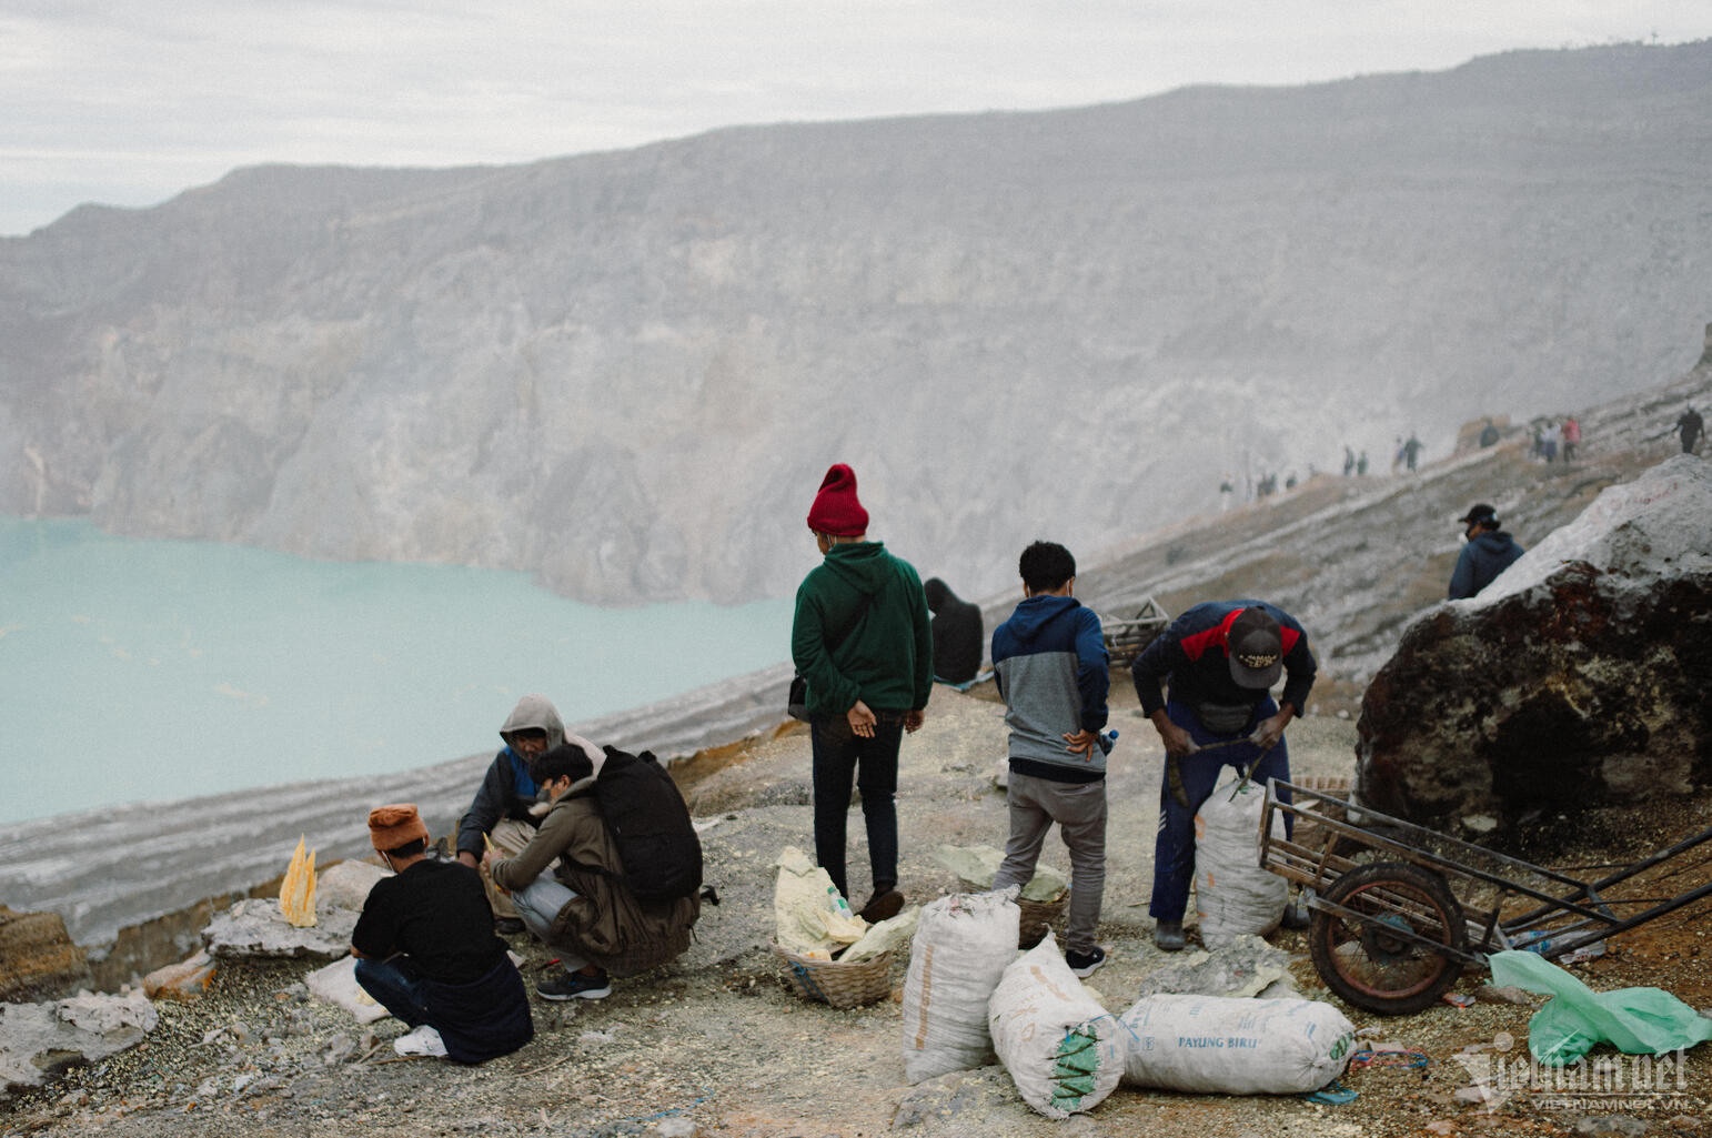
[[690, 946], [700, 916], [695, 895], [642, 902], [623, 883], [618, 845], [594, 797], [594, 744], [565, 743], [534, 762], [551, 808], [515, 857], [488, 852], [483, 864], [510, 890], [529, 931], [560, 951], [563, 972], [541, 981], [543, 999], [601, 999], [613, 975], [635, 975]]

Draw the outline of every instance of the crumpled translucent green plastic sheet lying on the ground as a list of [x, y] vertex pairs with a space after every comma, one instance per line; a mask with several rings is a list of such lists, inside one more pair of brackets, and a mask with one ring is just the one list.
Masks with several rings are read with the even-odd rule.
[[1596, 993], [1531, 951], [1500, 951], [1488, 960], [1493, 984], [1551, 996], [1527, 1022], [1527, 1049], [1537, 1063], [1565, 1066], [1594, 1044], [1625, 1054], [1664, 1054], [1712, 1039], [1712, 1020], [1659, 987]]

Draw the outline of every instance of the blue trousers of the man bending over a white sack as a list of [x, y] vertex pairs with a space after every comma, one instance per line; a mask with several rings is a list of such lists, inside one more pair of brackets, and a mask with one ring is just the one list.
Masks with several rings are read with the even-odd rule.
[[[1200, 726], [1200, 719], [1185, 703], [1166, 702], [1166, 715], [1178, 727], [1188, 731], [1197, 746], [1209, 743], [1228, 743], [1250, 734], [1262, 719], [1277, 715], [1277, 703], [1270, 696], [1260, 702], [1253, 719], [1234, 734], [1212, 734]], [[1178, 806], [1171, 796], [1171, 784], [1164, 772], [1159, 779], [1159, 835], [1154, 839], [1154, 898], [1147, 905], [1154, 921], [1181, 921], [1188, 910], [1188, 886], [1195, 880], [1195, 813], [1212, 794], [1219, 775], [1226, 767], [1246, 770], [1260, 758], [1260, 748], [1251, 743], [1221, 746], [1217, 751], [1202, 751], [1178, 760], [1183, 775], [1183, 789], [1188, 791], [1188, 806]], [[1169, 760], [1168, 760], [1169, 762]], [[1255, 767], [1255, 782], [1265, 785], [1267, 779], [1289, 780], [1289, 746], [1284, 739], [1267, 751], [1267, 756]], [[1289, 801], [1289, 791], [1279, 794]], [[1286, 823], [1289, 818], [1286, 818]]]

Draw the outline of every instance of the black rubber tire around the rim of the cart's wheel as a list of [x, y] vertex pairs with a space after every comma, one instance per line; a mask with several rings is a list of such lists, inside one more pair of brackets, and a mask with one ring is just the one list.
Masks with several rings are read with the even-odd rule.
[[[1440, 926], [1433, 939], [1459, 951], [1467, 948], [1462, 905], [1457, 904], [1445, 880], [1431, 869], [1423, 869], [1404, 861], [1380, 861], [1370, 866], [1358, 866], [1332, 883], [1332, 888], [1325, 892], [1325, 900], [1346, 909], [1358, 909], [1363, 904], [1363, 895], [1382, 888], [1404, 893], [1412, 902], [1433, 912]], [[1352, 900], [1354, 904], [1351, 904]], [[1462, 962], [1457, 957], [1440, 955], [1436, 957], [1440, 962], [1436, 972], [1424, 974], [1419, 981], [1406, 987], [1385, 989], [1363, 984], [1359, 979], [1346, 975], [1344, 967], [1340, 967], [1346, 962], [1340, 958], [1337, 948], [1339, 945], [1352, 943], [1347, 936], [1340, 936], [1346, 926], [1347, 922], [1342, 917], [1315, 910], [1313, 926], [1308, 931], [1308, 953], [1313, 957], [1313, 970], [1320, 974], [1327, 987], [1358, 1008], [1366, 1008], [1376, 1015], [1421, 1011], [1436, 1003], [1440, 996], [1455, 986], [1457, 977], [1462, 975]], [[1363, 922], [1364, 931], [1370, 928]], [[1411, 931], [1421, 936], [1428, 934], [1412, 928]], [[1361, 951], [1366, 953], [1364, 948]]]

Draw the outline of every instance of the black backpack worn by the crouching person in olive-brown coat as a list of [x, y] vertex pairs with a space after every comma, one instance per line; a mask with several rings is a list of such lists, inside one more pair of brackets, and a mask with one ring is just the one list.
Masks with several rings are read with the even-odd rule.
[[642, 902], [695, 895], [702, 888], [702, 839], [678, 784], [652, 751], [604, 751], [594, 801], [618, 845], [618, 880]]

